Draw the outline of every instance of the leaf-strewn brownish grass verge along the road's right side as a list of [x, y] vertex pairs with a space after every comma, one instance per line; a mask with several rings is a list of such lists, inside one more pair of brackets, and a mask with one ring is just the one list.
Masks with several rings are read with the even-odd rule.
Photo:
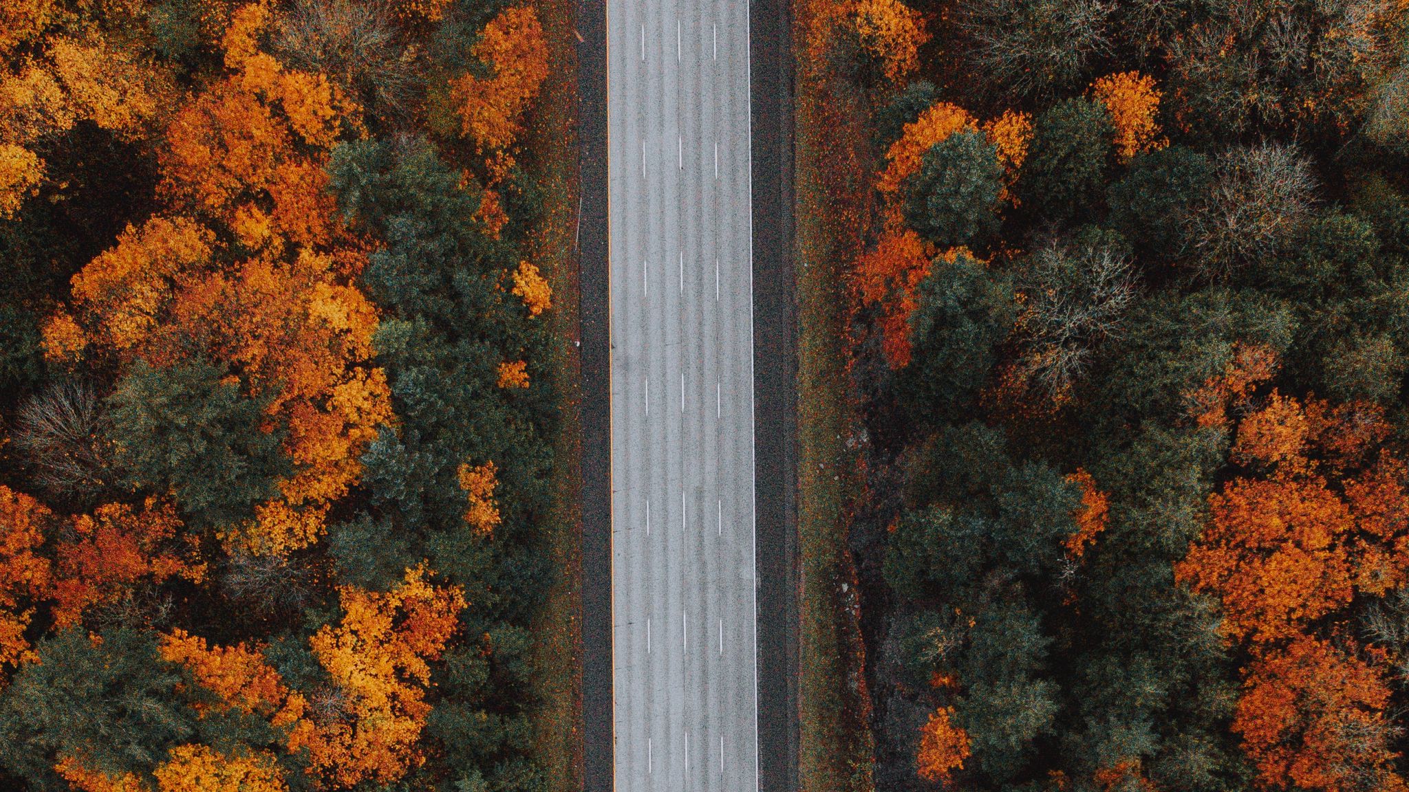
[[796, 58], [799, 784], [871, 792], [875, 741], [847, 506], [864, 485], [848, 397], [845, 273], [871, 217], [868, 109], [836, 69], [830, 0], [793, 0]]

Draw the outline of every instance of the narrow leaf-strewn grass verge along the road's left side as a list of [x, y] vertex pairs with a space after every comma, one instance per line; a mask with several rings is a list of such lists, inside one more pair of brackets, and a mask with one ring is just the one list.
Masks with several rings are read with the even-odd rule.
[[554, 503], [544, 521], [545, 550], [559, 575], [534, 619], [534, 758], [550, 792], [582, 788], [582, 510], [578, 338], [578, 58], [571, 0], [534, 0], [548, 41], [544, 80], [524, 140], [526, 166], [544, 196], [544, 216], [528, 244], [530, 261], [552, 285], [555, 342], [550, 355], [561, 423], [552, 441]]

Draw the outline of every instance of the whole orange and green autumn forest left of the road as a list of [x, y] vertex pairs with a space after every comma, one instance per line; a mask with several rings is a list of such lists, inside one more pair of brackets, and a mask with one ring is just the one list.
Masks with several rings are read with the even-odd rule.
[[0, 6], [0, 788], [540, 791], [510, 0]]

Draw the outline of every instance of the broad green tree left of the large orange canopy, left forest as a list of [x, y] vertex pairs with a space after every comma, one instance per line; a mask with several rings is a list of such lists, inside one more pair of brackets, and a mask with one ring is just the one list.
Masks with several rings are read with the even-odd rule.
[[169, 368], [138, 361], [108, 396], [128, 483], [170, 489], [187, 514], [211, 526], [249, 516], [290, 472], [263, 404], [223, 378], [200, 359]]

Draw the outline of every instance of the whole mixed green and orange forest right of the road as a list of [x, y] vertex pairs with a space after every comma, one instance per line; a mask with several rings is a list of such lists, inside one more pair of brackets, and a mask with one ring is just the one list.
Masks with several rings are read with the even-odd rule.
[[830, 8], [848, 788], [1409, 788], [1409, 6]]

